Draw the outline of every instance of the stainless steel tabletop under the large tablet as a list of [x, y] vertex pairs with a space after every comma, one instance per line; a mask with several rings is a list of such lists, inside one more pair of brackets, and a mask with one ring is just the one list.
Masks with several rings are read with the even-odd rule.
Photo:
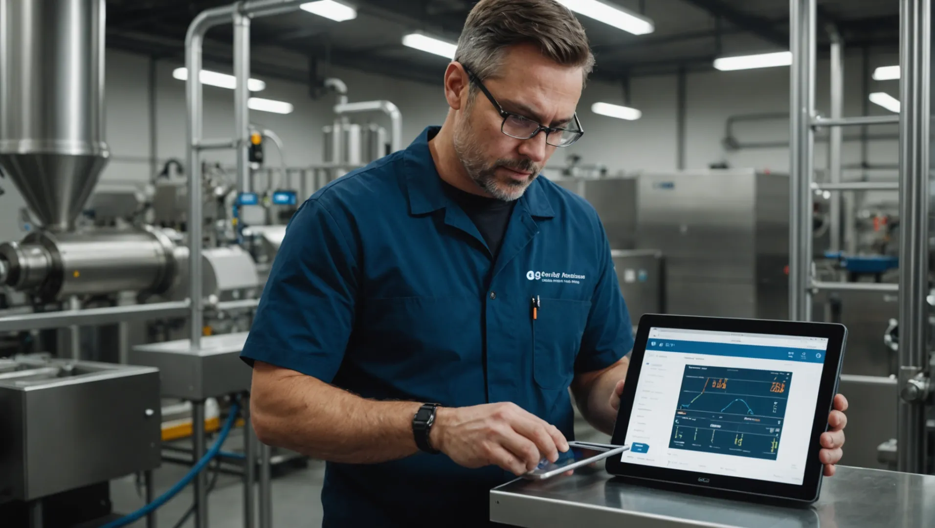
[[935, 477], [839, 466], [813, 507], [794, 508], [662, 492], [587, 469], [495, 488], [490, 519], [526, 528], [932, 528]]

